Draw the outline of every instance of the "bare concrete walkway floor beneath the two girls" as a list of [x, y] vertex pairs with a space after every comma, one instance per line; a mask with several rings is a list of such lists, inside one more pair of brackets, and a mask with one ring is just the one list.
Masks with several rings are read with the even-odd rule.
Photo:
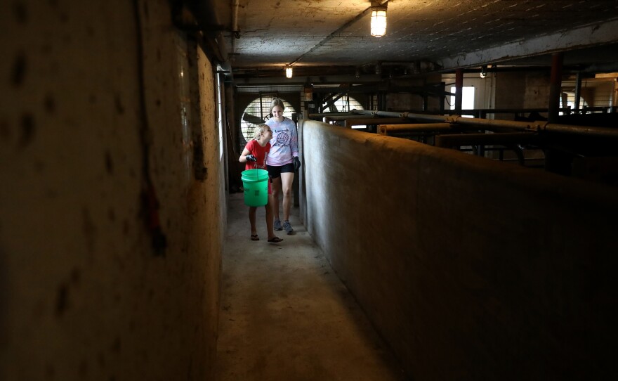
[[296, 235], [249, 240], [243, 194], [230, 195], [223, 255], [218, 381], [405, 380], [388, 347], [298, 220]]

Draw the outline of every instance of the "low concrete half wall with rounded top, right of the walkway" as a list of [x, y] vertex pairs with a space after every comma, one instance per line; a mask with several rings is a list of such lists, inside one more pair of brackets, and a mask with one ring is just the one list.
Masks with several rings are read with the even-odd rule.
[[305, 121], [305, 226], [414, 380], [610, 380], [618, 193]]

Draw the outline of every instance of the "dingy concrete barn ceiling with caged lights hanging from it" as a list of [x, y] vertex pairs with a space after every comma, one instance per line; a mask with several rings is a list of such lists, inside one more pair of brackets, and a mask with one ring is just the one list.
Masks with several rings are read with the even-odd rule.
[[618, 0], [389, 0], [379, 38], [367, 0], [210, 1], [237, 73], [550, 65], [555, 52], [565, 65], [618, 70]]

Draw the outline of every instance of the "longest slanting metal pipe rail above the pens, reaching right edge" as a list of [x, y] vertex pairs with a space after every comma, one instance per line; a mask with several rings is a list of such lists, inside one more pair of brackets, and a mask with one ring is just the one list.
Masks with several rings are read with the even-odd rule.
[[[353, 114], [378, 115], [381, 117], [407, 117], [414, 120], [430, 120], [448, 122], [452, 124], [469, 124], [478, 127], [504, 127], [520, 131], [548, 131], [560, 134], [590, 135], [607, 138], [618, 138], [618, 129], [594, 126], [574, 126], [571, 124], [549, 123], [545, 121], [518, 122], [515, 120], [493, 120], [482, 118], [468, 118], [459, 115], [426, 115], [411, 112], [352, 110]], [[491, 129], [491, 128], [487, 128]]]

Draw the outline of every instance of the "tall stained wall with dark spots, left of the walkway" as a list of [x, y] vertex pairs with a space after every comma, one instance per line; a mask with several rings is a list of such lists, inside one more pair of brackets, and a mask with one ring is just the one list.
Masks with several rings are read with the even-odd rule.
[[2, 8], [0, 380], [209, 379], [225, 226], [209, 58], [165, 0]]

